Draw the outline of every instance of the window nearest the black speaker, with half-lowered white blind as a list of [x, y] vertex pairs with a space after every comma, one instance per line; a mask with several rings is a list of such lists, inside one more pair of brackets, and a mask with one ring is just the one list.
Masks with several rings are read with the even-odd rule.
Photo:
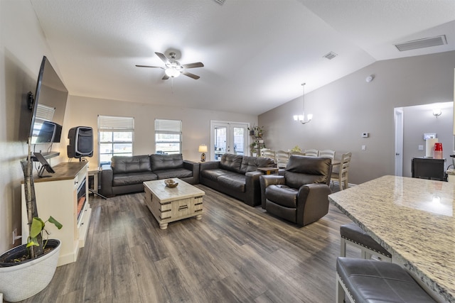
[[98, 116], [100, 165], [110, 163], [113, 155], [133, 155], [134, 118]]

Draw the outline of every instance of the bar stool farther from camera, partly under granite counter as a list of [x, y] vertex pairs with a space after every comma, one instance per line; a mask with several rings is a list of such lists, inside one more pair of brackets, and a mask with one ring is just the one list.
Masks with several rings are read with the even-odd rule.
[[392, 255], [378, 242], [373, 240], [362, 228], [355, 223], [340, 226], [341, 257], [346, 257], [346, 244], [360, 248], [363, 259], [375, 255], [378, 260], [392, 262]]

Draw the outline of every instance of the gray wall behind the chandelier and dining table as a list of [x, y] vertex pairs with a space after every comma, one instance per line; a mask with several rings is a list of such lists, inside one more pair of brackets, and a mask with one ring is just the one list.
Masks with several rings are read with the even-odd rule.
[[[394, 175], [393, 109], [454, 101], [454, 68], [455, 51], [375, 62], [305, 94], [306, 111], [314, 115], [310, 123], [301, 125], [292, 119], [301, 111], [301, 97], [259, 115], [258, 122], [265, 128], [267, 147], [274, 150], [295, 145], [329, 148], [336, 150], [336, 158], [352, 152], [350, 183]], [[368, 75], [375, 75], [373, 82], [365, 82]], [[370, 137], [362, 138], [363, 132]], [[416, 131], [419, 136], [421, 132]], [[438, 133], [446, 136], [452, 128]], [[366, 150], [360, 150], [361, 145]]]

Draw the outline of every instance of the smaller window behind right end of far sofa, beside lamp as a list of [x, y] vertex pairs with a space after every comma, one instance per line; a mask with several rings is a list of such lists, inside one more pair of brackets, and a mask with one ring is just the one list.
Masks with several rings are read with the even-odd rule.
[[182, 121], [155, 120], [155, 153], [164, 155], [182, 152]]

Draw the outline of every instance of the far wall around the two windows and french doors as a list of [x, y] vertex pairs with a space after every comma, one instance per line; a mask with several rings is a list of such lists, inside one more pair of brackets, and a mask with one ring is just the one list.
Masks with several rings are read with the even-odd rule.
[[[70, 96], [69, 110], [65, 115], [65, 126], [68, 128], [91, 126], [95, 132], [95, 151], [93, 157], [89, 158], [90, 167], [92, 167], [92, 163], [96, 167], [98, 159], [98, 138], [96, 133], [98, 115], [134, 117], [134, 155], [155, 152], [155, 119], [182, 120], [183, 158], [195, 161], [200, 160], [198, 146], [201, 143], [210, 145], [210, 120], [257, 124], [257, 116], [246, 114]], [[68, 143], [67, 138], [66, 141]], [[210, 158], [210, 151], [207, 153], [207, 158]]]

